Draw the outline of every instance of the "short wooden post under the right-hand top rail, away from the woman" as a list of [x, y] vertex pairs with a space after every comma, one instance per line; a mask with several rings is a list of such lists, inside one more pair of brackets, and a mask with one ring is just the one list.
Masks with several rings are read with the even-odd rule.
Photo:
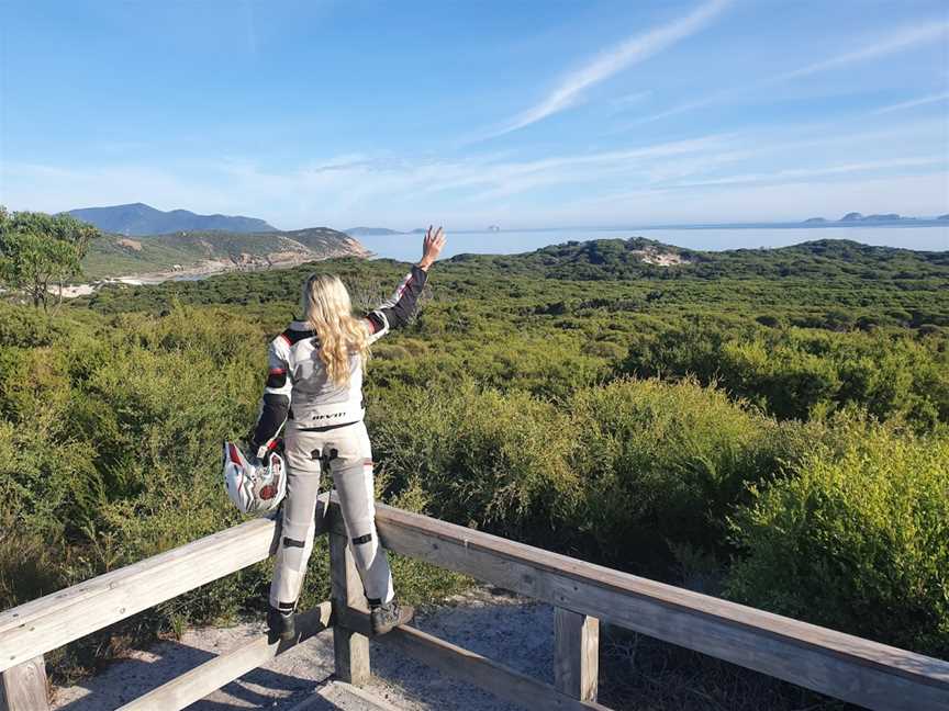
[[554, 685], [581, 701], [596, 700], [600, 620], [554, 608]]

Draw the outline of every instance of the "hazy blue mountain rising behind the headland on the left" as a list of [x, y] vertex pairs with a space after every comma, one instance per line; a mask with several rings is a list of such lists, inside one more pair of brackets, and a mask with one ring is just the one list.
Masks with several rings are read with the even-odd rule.
[[222, 230], [231, 233], [267, 233], [277, 228], [257, 217], [241, 215], [198, 215], [188, 210], [163, 212], [145, 203], [80, 207], [70, 215], [115, 235], [144, 237], [177, 232]]

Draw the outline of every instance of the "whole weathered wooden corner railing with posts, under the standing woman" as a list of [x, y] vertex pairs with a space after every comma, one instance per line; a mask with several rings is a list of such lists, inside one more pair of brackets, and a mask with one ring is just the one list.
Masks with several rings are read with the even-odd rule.
[[[362, 588], [335, 500], [323, 497], [332, 601], [299, 617], [298, 637], [266, 635], [122, 707], [181, 709], [332, 628], [338, 678], [369, 678]], [[389, 550], [465, 573], [555, 608], [555, 684], [548, 685], [412, 627], [379, 641], [514, 703], [596, 703], [599, 624], [605, 622], [871, 709], [949, 711], [949, 663], [619, 573], [565, 555], [378, 506]], [[277, 524], [256, 519], [0, 613], [0, 710], [46, 709], [43, 655], [68, 642], [269, 556]]]

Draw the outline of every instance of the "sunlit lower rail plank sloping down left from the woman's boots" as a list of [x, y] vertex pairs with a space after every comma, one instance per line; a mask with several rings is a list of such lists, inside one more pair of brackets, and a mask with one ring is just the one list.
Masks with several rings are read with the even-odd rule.
[[121, 707], [119, 711], [177, 711], [203, 699], [209, 693], [253, 672], [269, 659], [332, 625], [333, 606], [326, 601], [297, 616], [297, 637], [287, 642], [270, 642], [261, 634], [253, 642], [205, 662]]

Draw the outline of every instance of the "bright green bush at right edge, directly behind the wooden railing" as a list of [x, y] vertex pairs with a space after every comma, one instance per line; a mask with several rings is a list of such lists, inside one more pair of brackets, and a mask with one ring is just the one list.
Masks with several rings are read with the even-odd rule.
[[949, 440], [851, 422], [735, 516], [733, 599], [949, 656]]

